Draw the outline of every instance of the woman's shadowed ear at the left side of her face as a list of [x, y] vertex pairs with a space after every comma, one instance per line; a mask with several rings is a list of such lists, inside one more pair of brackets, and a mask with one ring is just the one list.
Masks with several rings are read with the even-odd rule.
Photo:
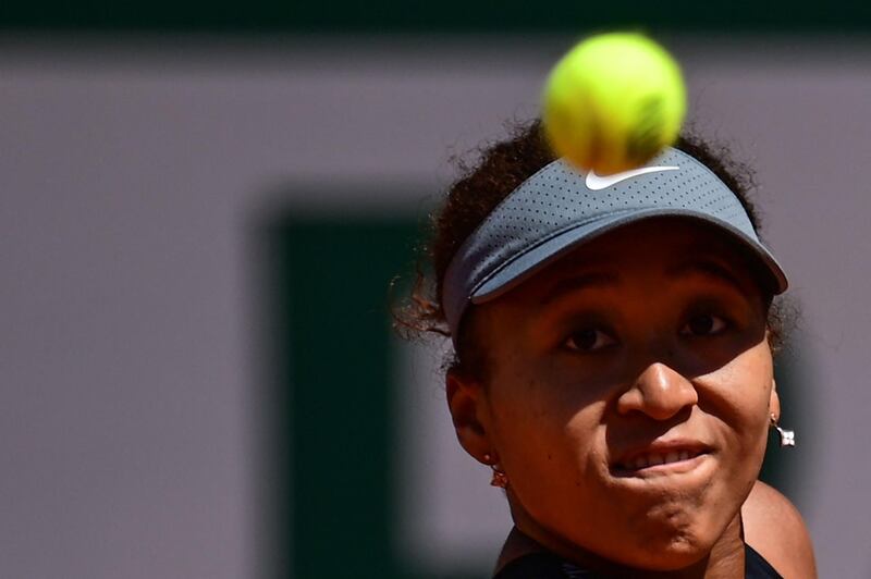
[[479, 463], [488, 464], [484, 457], [493, 456], [495, 448], [481, 420], [482, 417], [486, 420], [487, 414], [483, 385], [452, 368], [445, 375], [445, 386], [447, 408], [461, 446]]

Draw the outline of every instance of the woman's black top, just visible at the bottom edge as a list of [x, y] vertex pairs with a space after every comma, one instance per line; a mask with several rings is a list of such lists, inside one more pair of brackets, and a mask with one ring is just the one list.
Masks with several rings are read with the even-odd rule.
[[[783, 579], [753, 547], [744, 545], [745, 579]], [[604, 579], [551, 553], [532, 553], [505, 565], [493, 579]]]

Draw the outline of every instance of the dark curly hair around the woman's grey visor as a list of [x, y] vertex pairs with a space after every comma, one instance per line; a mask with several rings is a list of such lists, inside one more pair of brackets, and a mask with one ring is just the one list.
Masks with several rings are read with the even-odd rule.
[[[732, 189], [747, 211], [753, 230], [759, 233], [759, 213], [749, 197], [756, 186], [750, 168], [733, 159], [724, 145], [713, 145], [685, 132], [675, 147], [706, 164]], [[428, 243], [421, 248], [417, 278], [410, 295], [394, 308], [394, 328], [406, 338], [427, 334], [451, 336], [442, 308], [442, 281], [454, 254], [511, 192], [556, 159], [551, 150], [541, 121], [510, 125], [510, 136], [478, 149], [475, 161], [456, 159], [459, 177], [447, 190], [440, 210], [430, 215]], [[769, 308], [769, 340], [775, 350], [782, 343], [784, 320], [780, 300]], [[449, 367], [480, 373], [483, 352], [470, 337], [474, 308], [467, 310]]]

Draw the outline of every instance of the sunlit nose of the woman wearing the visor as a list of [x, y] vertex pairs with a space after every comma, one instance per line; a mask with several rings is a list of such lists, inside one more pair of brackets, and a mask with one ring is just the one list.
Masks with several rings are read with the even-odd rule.
[[671, 367], [655, 362], [648, 366], [630, 389], [617, 399], [617, 411], [639, 411], [657, 420], [667, 420], [699, 402], [692, 382]]

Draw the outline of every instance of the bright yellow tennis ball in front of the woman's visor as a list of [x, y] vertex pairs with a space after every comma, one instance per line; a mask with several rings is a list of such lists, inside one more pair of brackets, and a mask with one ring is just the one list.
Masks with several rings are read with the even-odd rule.
[[645, 164], [675, 141], [686, 112], [677, 62], [634, 33], [579, 42], [551, 71], [542, 100], [554, 151], [599, 174]]

